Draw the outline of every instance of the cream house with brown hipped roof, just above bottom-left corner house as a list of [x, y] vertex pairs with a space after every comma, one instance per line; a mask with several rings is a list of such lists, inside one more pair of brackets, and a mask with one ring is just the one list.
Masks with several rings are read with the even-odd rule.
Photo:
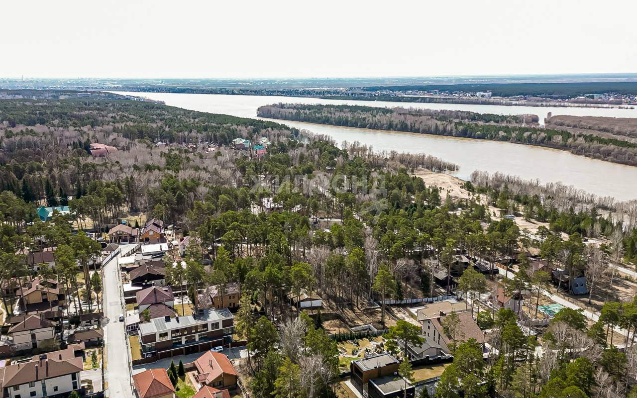
[[19, 322], [9, 328], [14, 350], [32, 350], [33, 348], [51, 350], [57, 346], [55, 320], [47, 319], [43, 314], [17, 316], [12, 320], [16, 319]]

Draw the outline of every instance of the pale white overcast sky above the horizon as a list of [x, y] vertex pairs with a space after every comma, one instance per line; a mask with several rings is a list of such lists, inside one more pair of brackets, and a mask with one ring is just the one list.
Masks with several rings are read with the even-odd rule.
[[637, 72], [637, 1], [0, 2], [0, 77]]

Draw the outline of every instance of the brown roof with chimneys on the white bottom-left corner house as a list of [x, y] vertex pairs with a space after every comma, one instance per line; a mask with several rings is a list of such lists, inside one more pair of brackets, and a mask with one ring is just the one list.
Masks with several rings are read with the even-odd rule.
[[4, 367], [0, 385], [4, 388], [14, 385], [47, 380], [65, 374], [79, 373], [84, 370], [82, 357], [76, 357], [76, 350], [83, 350], [83, 344], [69, 345], [66, 350], [36, 355], [29, 362]]

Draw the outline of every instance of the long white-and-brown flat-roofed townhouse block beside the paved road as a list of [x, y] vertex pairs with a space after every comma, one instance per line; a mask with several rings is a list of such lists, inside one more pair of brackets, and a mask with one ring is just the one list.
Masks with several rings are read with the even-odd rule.
[[140, 323], [143, 357], [159, 359], [210, 350], [231, 341], [233, 315], [228, 309], [202, 309], [196, 315], [155, 318]]

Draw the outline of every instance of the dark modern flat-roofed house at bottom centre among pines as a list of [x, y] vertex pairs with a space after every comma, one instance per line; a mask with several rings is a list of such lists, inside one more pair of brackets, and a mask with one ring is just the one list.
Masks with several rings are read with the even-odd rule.
[[[364, 396], [393, 398], [404, 396], [403, 379], [398, 378], [400, 362], [389, 353], [382, 353], [350, 363], [352, 385]], [[413, 398], [414, 387], [407, 382], [407, 396]]]

